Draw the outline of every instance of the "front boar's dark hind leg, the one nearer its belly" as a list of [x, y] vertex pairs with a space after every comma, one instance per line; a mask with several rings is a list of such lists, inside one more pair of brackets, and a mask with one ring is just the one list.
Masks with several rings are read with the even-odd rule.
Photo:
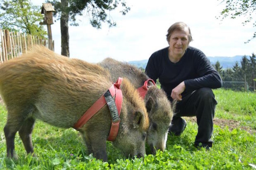
[[31, 133], [34, 128], [34, 123], [34, 118], [27, 118], [27, 120], [24, 121], [22, 127], [19, 129], [19, 136], [22, 139], [27, 153], [34, 153], [34, 147], [31, 140]]

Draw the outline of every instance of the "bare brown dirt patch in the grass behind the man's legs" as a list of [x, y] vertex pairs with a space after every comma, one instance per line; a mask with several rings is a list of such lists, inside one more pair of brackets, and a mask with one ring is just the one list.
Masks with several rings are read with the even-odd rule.
[[[186, 120], [196, 123], [196, 117], [185, 117]], [[256, 130], [251, 129], [248, 126], [241, 126], [240, 122], [237, 120], [229, 120], [229, 119], [221, 119], [221, 118], [214, 118], [213, 124], [218, 125], [222, 128], [228, 126], [229, 130], [232, 131], [234, 128], [240, 128], [242, 130], [246, 130], [250, 134], [256, 133]]]

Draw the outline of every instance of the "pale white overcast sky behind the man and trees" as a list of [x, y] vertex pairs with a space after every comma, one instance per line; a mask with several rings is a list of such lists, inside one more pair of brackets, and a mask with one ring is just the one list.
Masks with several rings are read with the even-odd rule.
[[[44, 0], [31, 0], [42, 5]], [[242, 25], [243, 17], [216, 17], [225, 8], [221, 0], [126, 0], [131, 8], [126, 15], [119, 9], [110, 12], [116, 26], [102, 24], [96, 29], [86, 14], [77, 18], [79, 26], [69, 26], [70, 58], [97, 63], [111, 57], [119, 61], [140, 61], [168, 46], [168, 28], [178, 21], [191, 29], [192, 47], [207, 57], [234, 57], [256, 53], [256, 39], [249, 40], [255, 31], [252, 23]], [[256, 18], [256, 16], [254, 16]], [[254, 19], [255, 19], [254, 18]], [[45, 29], [47, 30], [46, 26]], [[55, 52], [61, 52], [60, 21], [51, 25]]]

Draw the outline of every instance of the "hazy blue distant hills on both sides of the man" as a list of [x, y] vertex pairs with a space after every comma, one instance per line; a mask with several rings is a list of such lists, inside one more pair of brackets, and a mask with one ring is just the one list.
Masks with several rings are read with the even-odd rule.
[[[232, 68], [236, 61], [240, 64], [240, 61], [242, 60], [242, 55], [237, 55], [234, 57], [208, 57], [210, 59], [211, 64], [215, 64], [217, 61], [220, 62], [220, 65], [222, 68]], [[135, 65], [138, 68], [146, 68], [147, 66], [147, 59], [146, 60], [140, 60], [140, 61], [128, 61], [129, 64]]]

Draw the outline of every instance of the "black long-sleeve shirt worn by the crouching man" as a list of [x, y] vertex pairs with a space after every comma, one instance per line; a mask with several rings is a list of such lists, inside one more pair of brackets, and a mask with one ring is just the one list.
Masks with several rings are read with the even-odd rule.
[[215, 89], [222, 86], [220, 75], [211, 66], [210, 61], [202, 51], [188, 46], [183, 57], [177, 63], [173, 63], [169, 60], [168, 48], [151, 55], [145, 72], [154, 81], [159, 79], [161, 88], [167, 93], [169, 99], [171, 99], [171, 90], [182, 81], [186, 86], [182, 96], [201, 87]]

